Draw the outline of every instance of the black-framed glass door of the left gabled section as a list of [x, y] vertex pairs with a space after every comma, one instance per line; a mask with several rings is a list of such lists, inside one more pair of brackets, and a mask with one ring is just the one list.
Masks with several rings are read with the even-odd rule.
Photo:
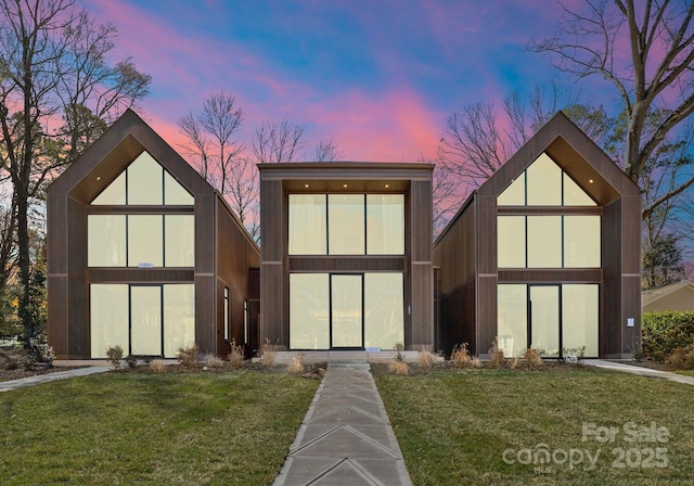
[[130, 286], [130, 354], [162, 356], [160, 286]]

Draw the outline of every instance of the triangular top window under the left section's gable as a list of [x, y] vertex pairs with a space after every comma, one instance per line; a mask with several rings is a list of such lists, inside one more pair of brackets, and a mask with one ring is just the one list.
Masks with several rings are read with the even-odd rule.
[[191, 206], [194, 200], [152, 155], [142, 152], [91, 204]]

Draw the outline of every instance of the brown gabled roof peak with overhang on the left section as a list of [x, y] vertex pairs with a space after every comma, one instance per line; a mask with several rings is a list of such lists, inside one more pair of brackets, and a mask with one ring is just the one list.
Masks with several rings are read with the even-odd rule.
[[152, 155], [191, 194], [215, 190], [132, 110], [127, 110], [51, 186], [51, 194], [67, 194], [89, 204], [143, 151]]

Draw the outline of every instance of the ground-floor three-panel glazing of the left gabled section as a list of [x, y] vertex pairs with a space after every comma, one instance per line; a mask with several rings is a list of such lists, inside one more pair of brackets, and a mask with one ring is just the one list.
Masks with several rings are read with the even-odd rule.
[[126, 355], [175, 358], [195, 343], [195, 285], [90, 285], [91, 357], [119, 345]]

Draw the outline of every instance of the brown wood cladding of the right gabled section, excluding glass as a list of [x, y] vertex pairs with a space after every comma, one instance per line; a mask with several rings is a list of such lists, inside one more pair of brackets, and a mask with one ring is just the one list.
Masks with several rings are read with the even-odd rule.
[[[543, 152], [579, 182], [597, 203], [595, 208], [497, 206], [497, 196]], [[601, 215], [602, 268], [500, 270], [498, 214]], [[499, 283], [596, 283], [600, 356], [629, 356], [641, 331], [640, 223], [639, 188], [568, 118], [557, 114], [478, 189], [436, 241], [441, 295], [437, 346], [448, 353], [455, 342], [467, 342], [472, 353], [487, 351], [497, 336]]]

